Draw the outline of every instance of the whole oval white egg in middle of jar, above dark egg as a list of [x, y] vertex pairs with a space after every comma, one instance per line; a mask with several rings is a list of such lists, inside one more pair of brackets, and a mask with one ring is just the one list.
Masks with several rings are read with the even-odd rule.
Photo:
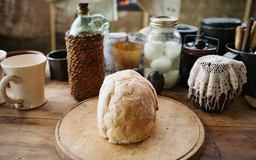
[[169, 58], [158, 58], [150, 64], [153, 70], [157, 70], [161, 73], [168, 72], [172, 68], [172, 60]]

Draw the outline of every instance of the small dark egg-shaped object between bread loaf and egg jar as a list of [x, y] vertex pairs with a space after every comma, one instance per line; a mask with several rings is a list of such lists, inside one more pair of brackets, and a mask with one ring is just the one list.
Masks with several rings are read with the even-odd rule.
[[164, 75], [161, 72], [153, 71], [148, 75], [148, 81], [155, 88], [156, 94], [161, 95], [164, 88]]

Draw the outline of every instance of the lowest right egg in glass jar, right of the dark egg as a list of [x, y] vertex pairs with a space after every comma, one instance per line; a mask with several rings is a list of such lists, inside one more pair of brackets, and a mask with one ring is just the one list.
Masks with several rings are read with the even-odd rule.
[[171, 70], [170, 72], [164, 73], [164, 84], [165, 88], [173, 87], [179, 78], [180, 70]]

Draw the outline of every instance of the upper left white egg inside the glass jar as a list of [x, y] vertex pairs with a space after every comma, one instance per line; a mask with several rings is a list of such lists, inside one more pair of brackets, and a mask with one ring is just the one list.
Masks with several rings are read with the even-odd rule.
[[164, 52], [164, 43], [161, 41], [150, 41], [144, 44], [144, 56], [148, 60], [159, 58]]

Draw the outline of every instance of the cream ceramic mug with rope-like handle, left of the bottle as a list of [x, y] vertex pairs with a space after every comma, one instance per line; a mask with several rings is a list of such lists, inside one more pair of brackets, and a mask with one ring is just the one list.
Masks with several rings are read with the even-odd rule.
[[[15, 108], [26, 110], [42, 106], [46, 102], [44, 95], [44, 73], [46, 56], [24, 54], [6, 58], [1, 66], [6, 76], [0, 82], [0, 97]], [[15, 99], [6, 94], [10, 82]]]

